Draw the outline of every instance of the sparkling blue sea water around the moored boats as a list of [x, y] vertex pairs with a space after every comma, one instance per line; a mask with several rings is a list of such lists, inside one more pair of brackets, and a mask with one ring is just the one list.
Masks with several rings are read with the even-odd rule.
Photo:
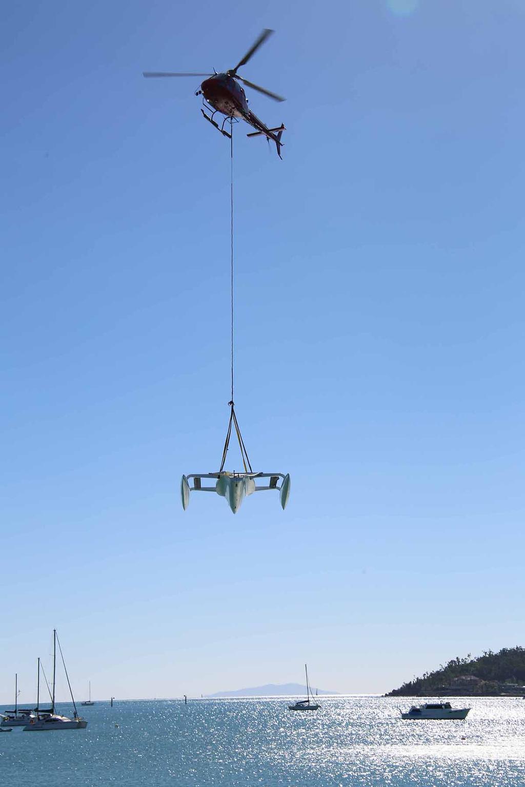
[[525, 700], [458, 700], [472, 708], [464, 722], [402, 721], [397, 708], [410, 699], [320, 701], [312, 713], [288, 711], [281, 698], [99, 702], [82, 708], [86, 730], [0, 734], [0, 778], [39, 787], [525, 785]]

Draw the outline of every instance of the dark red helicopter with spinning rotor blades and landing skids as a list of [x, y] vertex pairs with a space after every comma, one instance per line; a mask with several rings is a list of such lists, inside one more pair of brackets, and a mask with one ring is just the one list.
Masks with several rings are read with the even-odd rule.
[[[215, 69], [213, 69], [213, 74], [210, 73], [194, 73], [194, 72], [165, 72], [165, 71], [144, 71], [142, 72], [142, 76], [148, 77], [164, 77], [164, 76], [207, 76], [208, 79], [205, 79], [203, 83], [201, 83], [201, 87], [198, 91], [195, 91], [195, 95], [202, 96], [202, 104], [203, 108], [201, 108], [201, 113], [205, 117], [206, 120], [216, 127], [221, 134], [225, 137], [231, 139], [231, 133], [226, 131], [224, 128], [224, 124], [226, 124], [227, 120], [230, 120], [230, 124], [233, 122], [234, 118], [238, 118], [239, 120], [246, 120], [246, 123], [252, 126], [255, 131], [252, 131], [250, 134], [247, 134], [248, 137], [259, 137], [264, 136], [268, 141], [272, 139], [272, 142], [275, 142], [275, 146], [277, 148], [277, 155], [279, 158], [281, 156], [281, 136], [283, 135], [283, 131], [285, 131], [284, 124], [281, 124], [279, 127], [276, 128], [268, 128], [268, 126], [264, 125], [262, 120], [259, 120], [257, 115], [255, 115], [251, 109], [248, 108], [248, 99], [246, 98], [246, 94], [239, 84], [242, 82], [247, 87], [251, 87], [253, 90], [262, 93], [269, 98], [273, 98], [275, 101], [283, 102], [285, 99], [283, 96], [279, 96], [276, 93], [272, 93], [272, 91], [267, 91], [264, 87], [260, 87], [259, 85], [254, 84], [253, 82], [249, 82], [248, 79], [243, 79], [242, 76], [239, 76], [237, 73], [237, 69], [241, 68], [242, 65], [246, 65], [246, 63], [253, 57], [253, 54], [257, 52], [259, 47], [268, 39], [270, 35], [272, 35], [273, 30], [264, 29], [259, 35], [257, 41], [253, 43], [253, 46], [246, 52], [245, 56], [242, 57], [235, 68], [229, 68], [226, 72], [218, 74]], [[219, 126], [215, 120], [213, 120], [213, 116], [219, 112], [220, 114], [224, 115], [224, 120], [222, 126]]]

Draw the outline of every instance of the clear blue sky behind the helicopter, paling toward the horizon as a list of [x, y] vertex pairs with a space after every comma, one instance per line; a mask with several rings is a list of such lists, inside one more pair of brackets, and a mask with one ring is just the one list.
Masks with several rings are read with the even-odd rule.
[[[382, 692], [523, 644], [523, 21], [518, 0], [12, 4], [2, 24], [2, 676], [61, 634], [77, 695], [300, 680]], [[286, 512], [233, 516], [236, 391]], [[235, 455], [234, 455], [235, 456]], [[234, 469], [231, 467], [230, 469]], [[235, 467], [238, 469], [238, 465]], [[59, 685], [66, 696], [65, 685]]]

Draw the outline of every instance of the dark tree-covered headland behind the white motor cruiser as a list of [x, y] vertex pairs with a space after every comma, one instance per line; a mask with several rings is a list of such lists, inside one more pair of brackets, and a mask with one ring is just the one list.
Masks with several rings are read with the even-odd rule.
[[473, 659], [457, 656], [434, 672], [425, 672], [386, 696], [523, 696], [525, 648], [488, 650]]

